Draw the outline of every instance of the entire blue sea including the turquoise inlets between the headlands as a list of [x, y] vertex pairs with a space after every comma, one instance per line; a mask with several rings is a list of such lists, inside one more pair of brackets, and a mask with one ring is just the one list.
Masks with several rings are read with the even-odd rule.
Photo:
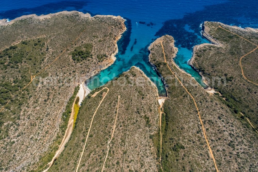
[[176, 64], [204, 87], [200, 75], [188, 65], [193, 46], [208, 42], [200, 34], [200, 24], [204, 21], [219, 21], [228, 25], [258, 28], [256, 0], [3, 0], [0, 3], [0, 19], [11, 20], [26, 14], [41, 15], [63, 10], [77, 10], [91, 15], [120, 15], [126, 19], [127, 31], [118, 41], [117, 60], [97, 75], [101, 83], [94, 80], [88, 82], [90, 89], [106, 83], [108, 80], [103, 80], [104, 77], [113, 78], [135, 65], [155, 82], [159, 94], [165, 95], [162, 81], [148, 62], [147, 50], [151, 42], [165, 34], [173, 36], [179, 48]]

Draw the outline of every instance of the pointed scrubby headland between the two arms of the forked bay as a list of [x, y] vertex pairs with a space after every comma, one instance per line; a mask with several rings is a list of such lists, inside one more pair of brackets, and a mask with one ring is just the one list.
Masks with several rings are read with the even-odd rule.
[[[104, 89], [90, 97], [104, 87], [109, 88], [108, 93]], [[104, 171], [121, 171], [123, 166], [124, 171], [157, 171], [156, 146], [152, 142], [153, 135], [159, 130], [157, 88], [136, 67], [95, 89], [83, 100], [71, 138], [49, 171], [76, 170], [92, 116], [106, 93], [94, 116], [78, 171], [102, 170], [119, 95], [117, 122]]]

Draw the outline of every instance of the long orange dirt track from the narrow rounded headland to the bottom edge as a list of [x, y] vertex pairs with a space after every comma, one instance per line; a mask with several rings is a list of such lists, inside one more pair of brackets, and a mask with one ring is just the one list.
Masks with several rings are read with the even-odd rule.
[[193, 102], [194, 102], [194, 104], [195, 104], [196, 110], [197, 110], [197, 112], [198, 112], [199, 120], [200, 120], [200, 123], [201, 123], [201, 128], [203, 129], [204, 138], [205, 138], [206, 143], [207, 143], [207, 146], [208, 146], [208, 148], [209, 148], [209, 152], [210, 152], [211, 157], [212, 157], [212, 160], [213, 160], [213, 162], [214, 162], [216, 171], [219, 172], [219, 170], [218, 170], [218, 168], [217, 168], [216, 160], [215, 160], [215, 158], [214, 158], [214, 156], [213, 156], [211, 147], [210, 147], [210, 145], [209, 145], [208, 139], [207, 139], [206, 134], [205, 134], [205, 129], [204, 129], [203, 121], [201, 120], [201, 116], [200, 116], [200, 113], [199, 113], [199, 109], [198, 109], [198, 107], [197, 107], [197, 104], [196, 104], [196, 102], [195, 102], [195, 99], [193, 98], [193, 96], [191, 95], [191, 93], [184, 87], [184, 85], [182, 84], [182, 82], [178, 79], [178, 77], [177, 77], [177, 76], [175, 75], [175, 73], [171, 70], [171, 68], [168, 66], [168, 63], [167, 63], [167, 61], [166, 61], [166, 56], [165, 56], [165, 51], [164, 51], [164, 46], [163, 46], [163, 44], [162, 44], [162, 41], [160, 42], [160, 45], [161, 45], [161, 47], [162, 47], [162, 51], [163, 51], [163, 54], [164, 54], [164, 60], [165, 60], [165, 62], [166, 62], [166, 64], [167, 64], [168, 69], [169, 69], [170, 72], [176, 77], [176, 79], [177, 79], [178, 82], [182, 85], [182, 87], [186, 90], [186, 92], [190, 95], [190, 97], [192, 98], [192, 100], [193, 100]]

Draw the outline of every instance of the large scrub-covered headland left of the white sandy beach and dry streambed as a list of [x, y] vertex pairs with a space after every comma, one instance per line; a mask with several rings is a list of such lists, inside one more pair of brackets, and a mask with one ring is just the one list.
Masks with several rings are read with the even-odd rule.
[[0, 170], [38, 170], [62, 140], [78, 82], [114, 62], [124, 19], [72, 11], [1, 22]]

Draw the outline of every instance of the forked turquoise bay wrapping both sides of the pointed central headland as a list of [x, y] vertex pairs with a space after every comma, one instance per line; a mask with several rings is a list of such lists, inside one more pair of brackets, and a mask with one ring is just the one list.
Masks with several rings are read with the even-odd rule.
[[[126, 25], [129, 19], [126, 21]], [[130, 22], [130, 21], [129, 21]], [[160, 95], [166, 95], [164, 84], [160, 77], [158, 76], [157, 72], [154, 70], [154, 68], [150, 65], [148, 62], [148, 46], [151, 42], [148, 44], [145, 44], [143, 39], [140, 39], [135, 35], [135, 38], [130, 39], [134, 35], [133, 28], [130, 28], [131, 26], [127, 26], [127, 31], [125, 34], [123, 34], [122, 38], [118, 41], [118, 54], [116, 55], [116, 61], [113, 65], [108, 67], [107, 69], [104, 69], [100, 71], [99, 74], [96, 76], [91, 77], [89, 80], [87, 80], [87, 86], [89, 89], [93, 90], [114, 77], [118, 77], [119, 74], [121, 74], [124, 71], [129, 70], [132, 66], [139, 67], [150, 79], [152, 82], [154, 82], [157, 85], [158, 91]], [[139, 24], [135, 23], [135, 28], [139, 30], [143, 30], [144, 26], [139, 26]], [[128, 32], [131, 32], [131, 35], [128, 35]], [[135, 40], [136, 39], [136, 40]], [[120, 46], [122, 43], [128, 43], [128, 46], [124, 52], [121, 52], [123, 50], [122, 46]], [[97, 79], [96, 79], [97, 78]], [[98, 80], [99, 79], [99, 80]]]

